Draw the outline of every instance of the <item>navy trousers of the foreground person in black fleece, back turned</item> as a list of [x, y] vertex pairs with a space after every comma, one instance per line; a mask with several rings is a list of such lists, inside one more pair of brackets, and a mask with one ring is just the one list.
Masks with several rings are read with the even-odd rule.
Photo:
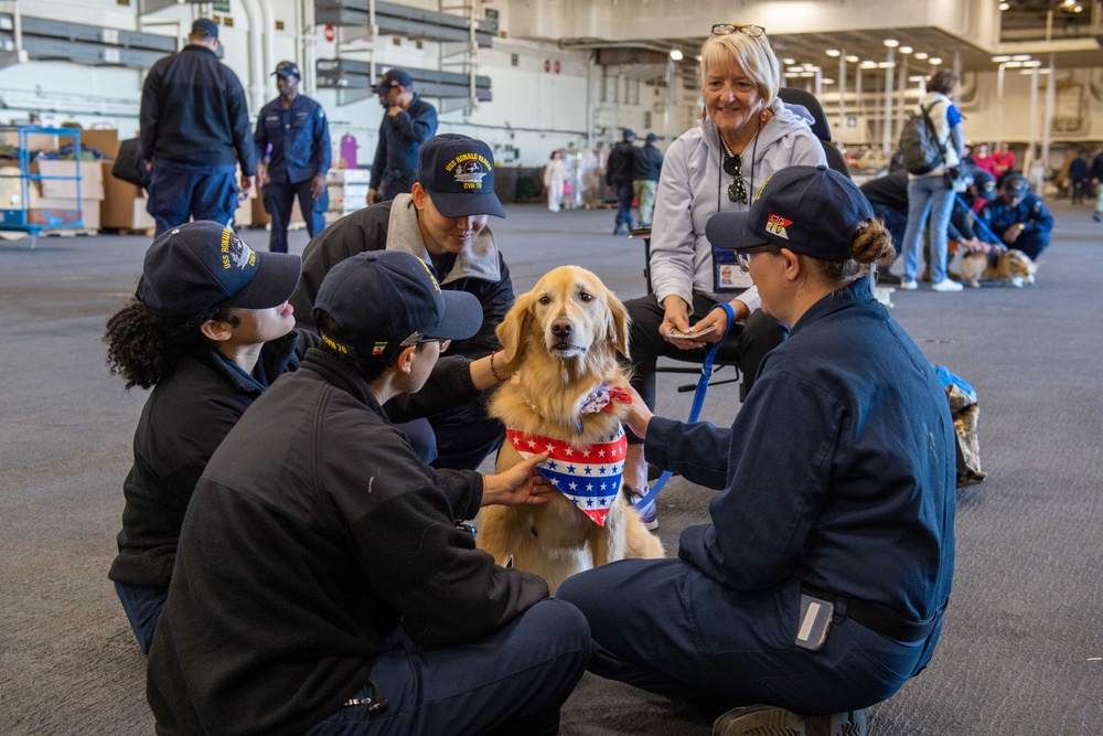
[[590, 659], [590, 629], [577, 608], [548, 598], [479, 641], [430, 649], [396, 629], [385, 647], [354, 697], [386, 697], [386, 711], [344, 705], [309, 736], [555, 734]]

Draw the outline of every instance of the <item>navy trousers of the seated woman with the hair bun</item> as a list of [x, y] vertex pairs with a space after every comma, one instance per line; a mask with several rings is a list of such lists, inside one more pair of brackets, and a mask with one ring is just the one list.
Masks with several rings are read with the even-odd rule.
[[737, 593], [681, 559], [623, 559], [568, 578], [556, 593], [590, 622], [589, 670], [721, 712], [767, 703], [796, 713], [860, 710], [896, 693], [927, 664], [924, 640], [899, 642], [850, 619], [823, 647], [793, 640], [801, 586]]

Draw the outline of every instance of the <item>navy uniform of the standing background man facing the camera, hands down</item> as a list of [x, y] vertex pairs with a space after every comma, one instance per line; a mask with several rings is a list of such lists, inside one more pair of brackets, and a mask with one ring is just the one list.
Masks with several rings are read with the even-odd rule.
[[265, 210], [272, 216], [268, 249], [287, 253], [287, 226], [296, 196], [310, 236], [325, 227], [322, 213], [329, 209], [330, 198], [322, 194], [315, 200], [311, 194], [314, 177], [324, 177], [332, 159], [325, 110], [306, 95], [298, 95], [286, 109], [277, 97], [260, 108], [253, 140], [257, 160], [268, 159], [264, 186]]

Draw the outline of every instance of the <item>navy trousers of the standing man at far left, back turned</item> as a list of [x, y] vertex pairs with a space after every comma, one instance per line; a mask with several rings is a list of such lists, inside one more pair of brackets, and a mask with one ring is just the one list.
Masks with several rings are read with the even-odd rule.
[[157, 221], [157, 234], [189, 220], [229, 225], [237, 210], [237, 164], [194, 166], [153, 160], [146, 210]]

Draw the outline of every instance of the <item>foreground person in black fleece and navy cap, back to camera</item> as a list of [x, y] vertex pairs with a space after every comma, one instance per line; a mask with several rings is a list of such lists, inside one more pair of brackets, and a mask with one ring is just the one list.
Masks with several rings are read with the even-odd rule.
[[158, 733], [557, 733], [586, 620], [456, 524], [546, 502], [547, 455], [435, 470], [382, 408], [421, 386], [441, 341], [474, 334], [478, 299], [381, 250], [334, 266], [314, 317], [322, 346], [195, 488], [149, 658]]

